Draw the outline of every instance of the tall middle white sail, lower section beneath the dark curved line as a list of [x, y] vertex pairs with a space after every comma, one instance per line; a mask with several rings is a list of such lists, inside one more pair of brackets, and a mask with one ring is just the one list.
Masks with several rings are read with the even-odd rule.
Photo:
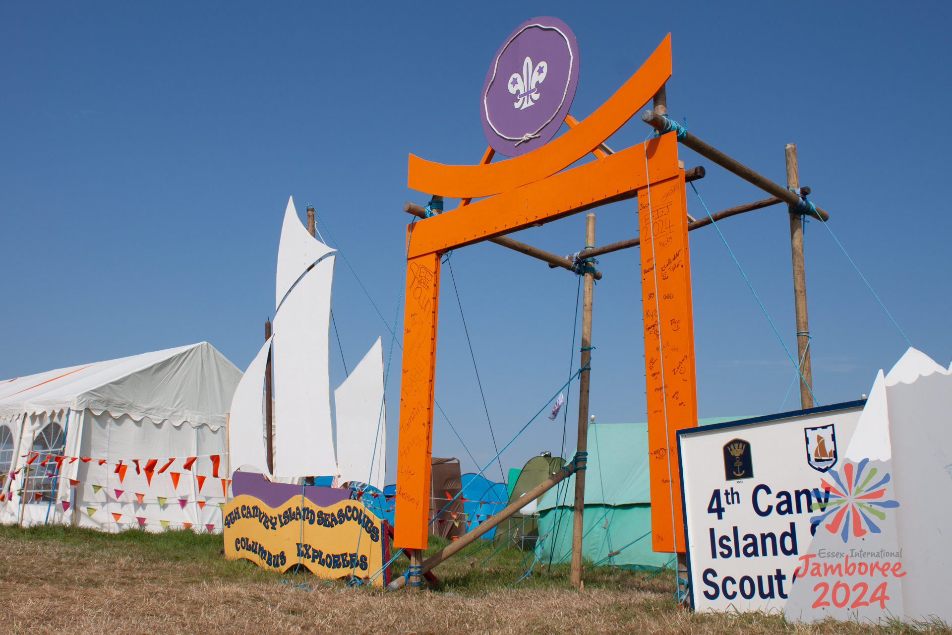
[[274, 318], [274, 398], [279, 408], [272, 444], [278, 477], [337, 474], [327, 366], [334, 260], [325, 258], [307, 271]]

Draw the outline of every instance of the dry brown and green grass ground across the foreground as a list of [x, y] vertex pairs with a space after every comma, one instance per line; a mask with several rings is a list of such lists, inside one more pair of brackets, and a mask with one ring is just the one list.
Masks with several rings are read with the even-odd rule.
[[[445, 545], [431, 540], [430, 551]], [[475, 548], [438, 567], [441, 585], [415, 595], [281, 575], [219, 553], [220, 535], [0, 526], [0, 632], [30, 633], [791, 633], [913, 631], [944, 625], [791, 625], [777, 615], [702, 615], [671, 600], [664, 572], [539, 565], [516, 584], [526, 554]], [[531, 562], [531, 559], [529, 560]], [[401, 564], [403, 563], [403, 564]], [[394, 566], [406, 566], [401, 559]], [[307, 587], [312, 590], [305, 590]]]

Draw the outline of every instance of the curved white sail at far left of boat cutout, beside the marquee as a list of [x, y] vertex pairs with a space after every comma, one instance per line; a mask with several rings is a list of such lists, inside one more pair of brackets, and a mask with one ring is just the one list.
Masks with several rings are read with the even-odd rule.
[[268, 474], [264, 407], [265, 370], [268, 367], [270, 349], [271, 340], [268, 339], [248, 366], [231, 398], [231, 412], [228, 415], [228, 459], [232, 470], [251, 466], [253, 471]]

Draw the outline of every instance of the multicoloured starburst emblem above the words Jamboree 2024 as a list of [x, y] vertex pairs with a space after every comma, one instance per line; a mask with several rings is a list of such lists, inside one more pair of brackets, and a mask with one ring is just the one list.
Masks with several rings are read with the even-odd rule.
[[811, 507], [814, 511], [823, 509], [824, 513], [821, 516], [812, 517], [810, 523], [819, 526], [832, 515], [832, 519], [823, 526], [830, 533], [840, 532], [843, 543], [848, 541], [851, 527], [855, 538], [861, 538], [867, 532], [882, 533], [883, 530], [870, 516], [882, 522], [886, 519], [886, 515], [877, 507], [888, 509], [899, 506], [897, 501], [883, 500], [886, 493], [883, 486], [889, 483], [889, 472], [871, 486], [869, 483], [876, 478], [878, 468], [871, 468], [863, 477], [863, 471], [868, 463], [869, 459], [863, 459], [859, 465], [855, 466], [847, 462], [839, 473], [833, 469], [829, 470], [827, 475], [836, 483], [836, 486], [827, 483], [825, 479], [820, 479], [820, 483], [823, 484], [823, 490], [830, 498], [836, 498], [814, 503]]

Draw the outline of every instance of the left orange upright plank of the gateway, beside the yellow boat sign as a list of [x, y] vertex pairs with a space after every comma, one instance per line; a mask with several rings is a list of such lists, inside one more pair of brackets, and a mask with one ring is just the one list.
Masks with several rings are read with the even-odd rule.
[[[412, 226], [411, 243], [419, 228]], [[439, 255], [408, 258], [393, 544], [410, 549], [426, 548], [439, 290]]]

